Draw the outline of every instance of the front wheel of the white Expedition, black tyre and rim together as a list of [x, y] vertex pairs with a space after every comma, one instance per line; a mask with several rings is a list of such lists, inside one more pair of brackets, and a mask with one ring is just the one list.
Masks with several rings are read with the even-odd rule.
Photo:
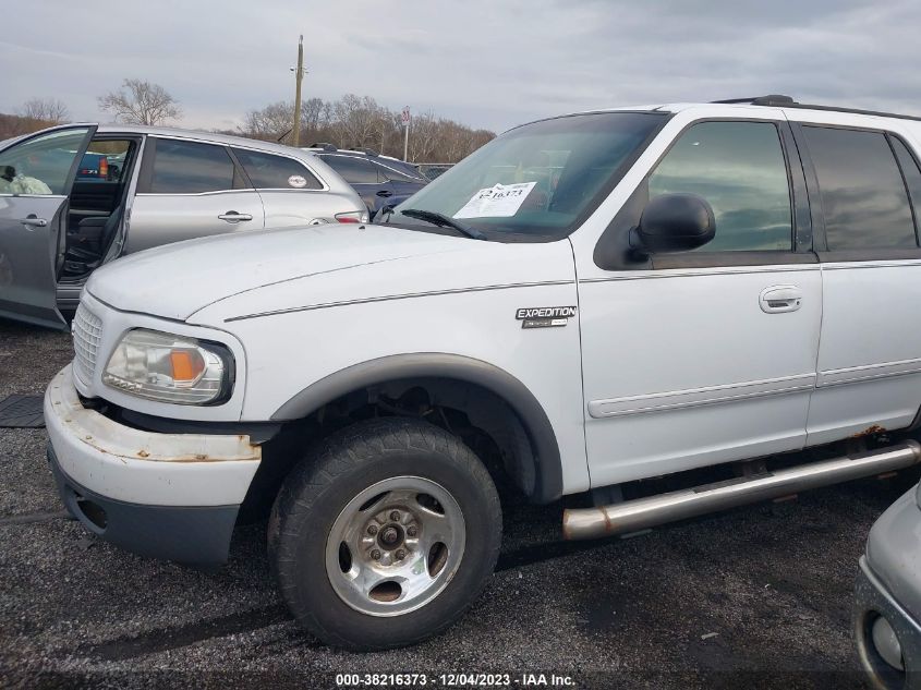
[[269, 554], [298, 621], [352, 650], [413, 644], [470, 606], [495, 567], [501, 510], [460, 439], [416, 420], [351, 426], [276, 499]]

